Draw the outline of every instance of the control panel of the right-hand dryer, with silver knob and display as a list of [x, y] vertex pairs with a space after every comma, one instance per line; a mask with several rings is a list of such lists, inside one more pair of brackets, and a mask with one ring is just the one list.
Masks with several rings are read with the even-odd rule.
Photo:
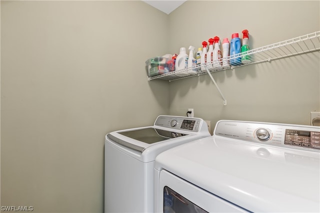
[[320, 127], [246, 122], [218, 121], [214, 135], [254, 143], [320, 152]]

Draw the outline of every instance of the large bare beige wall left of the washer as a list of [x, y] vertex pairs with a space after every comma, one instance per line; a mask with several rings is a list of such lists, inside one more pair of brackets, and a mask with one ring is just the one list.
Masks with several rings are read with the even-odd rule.
[[168, 114], [168, 16], [142, 1], [1, 0], [1, 206], [102, 212], [107, 132]]

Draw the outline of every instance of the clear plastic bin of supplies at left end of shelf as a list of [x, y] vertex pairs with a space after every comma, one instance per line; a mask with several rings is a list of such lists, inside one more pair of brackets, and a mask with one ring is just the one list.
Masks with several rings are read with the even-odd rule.
[[146, 65], [148, 76], [152, 77], [155, 75], [168, 73], [169, 72], [169, 67], [167, 64], [168, 60], [169, 60], [168, 58], [160, 57], [160, 56], [147, 59], [145, 61], [145, 65]]

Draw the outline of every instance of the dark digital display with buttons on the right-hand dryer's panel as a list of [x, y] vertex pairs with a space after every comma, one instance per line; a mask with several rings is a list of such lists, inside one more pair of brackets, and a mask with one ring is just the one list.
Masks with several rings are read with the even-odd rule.
[[320, 149], [320, 132], [286, 129], [284, 144]]

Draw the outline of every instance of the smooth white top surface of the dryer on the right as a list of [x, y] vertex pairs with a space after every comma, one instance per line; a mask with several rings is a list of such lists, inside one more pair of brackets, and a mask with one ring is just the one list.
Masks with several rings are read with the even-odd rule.
[[155, 168], [250, 212], [320, 212], [319, 155], [211, 136], [159, 154]]

